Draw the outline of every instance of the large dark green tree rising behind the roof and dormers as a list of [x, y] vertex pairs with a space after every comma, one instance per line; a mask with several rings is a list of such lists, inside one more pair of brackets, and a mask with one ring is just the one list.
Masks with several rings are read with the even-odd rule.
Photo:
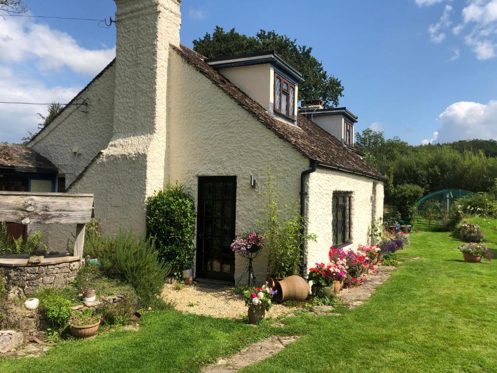
[[297, 39], [275, 31], [260, 30], [255, 36], [240, 34], [232, 28], [216, 26], [212, 34], [193, 40], [193, 49], [207, 58], [275, 50], [284, 60], [304, 74], [299, 84], [299, 100], [321, 98], [325, 107], [338, 105], [343, 96], [341, 81], [329, 75], [323, 64], [312, 56], [312, 48], [298, 45]]

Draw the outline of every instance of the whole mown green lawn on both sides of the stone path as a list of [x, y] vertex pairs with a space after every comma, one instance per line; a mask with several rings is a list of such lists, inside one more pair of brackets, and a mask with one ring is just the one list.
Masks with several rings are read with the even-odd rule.
[[341, 317], [299, 315], [281, 329], [156, 312], [138, 332], [67, 342], [0, 372], [198, 372], [271, 333], [303, 337], [241, 372], [497, 372], [497, 261], [464, 263], [449, 233], [411, 238], [391, 279]]

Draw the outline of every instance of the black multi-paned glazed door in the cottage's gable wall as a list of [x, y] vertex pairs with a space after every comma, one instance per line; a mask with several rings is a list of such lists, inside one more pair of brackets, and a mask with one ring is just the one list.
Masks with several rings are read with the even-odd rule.
[[237, 178], [198, 178], [197, 271], [196, 277], [235, 280]]

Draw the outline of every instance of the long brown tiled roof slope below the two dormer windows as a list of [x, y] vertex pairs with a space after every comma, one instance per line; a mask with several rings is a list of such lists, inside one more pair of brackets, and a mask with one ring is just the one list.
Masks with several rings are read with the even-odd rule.
[[334, 136], [323, 130], [305, 116], [298, 114], [297, 127], [284, 123], [271, 115], [261, 105], [240, 91], [233, 83], [205, 63], [204, 56], [181, 45], [171, 47], [190, 65], [209, 78], [212, 83], [230, 95], [240, 106], [248, 110], [278, 137], [289, 142], [301, 154], [325, 166], [355, 172], [384, 180], [384, 177], [361, 156], [343, 145]]

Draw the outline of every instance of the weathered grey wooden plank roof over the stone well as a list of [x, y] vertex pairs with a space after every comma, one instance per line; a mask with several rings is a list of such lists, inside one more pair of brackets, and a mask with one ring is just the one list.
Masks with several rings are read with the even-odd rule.
[[79, 224], [91, 220], [92, 194], [0, 192], [0, 221]]

